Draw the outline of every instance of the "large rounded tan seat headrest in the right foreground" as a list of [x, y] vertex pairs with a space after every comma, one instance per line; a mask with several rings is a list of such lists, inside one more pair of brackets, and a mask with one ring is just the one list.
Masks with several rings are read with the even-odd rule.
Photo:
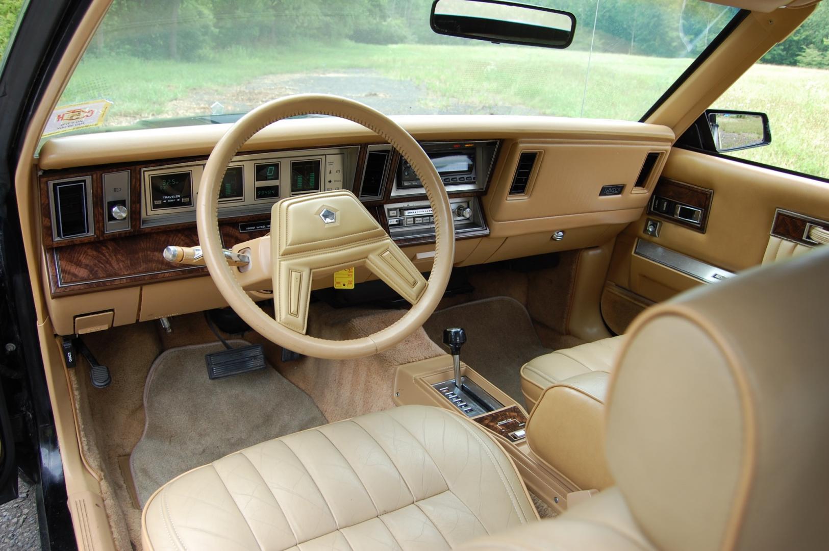
[[652, 543], [827, 545], [829, 246], [683, 293], [629, 335], [608, 465]]

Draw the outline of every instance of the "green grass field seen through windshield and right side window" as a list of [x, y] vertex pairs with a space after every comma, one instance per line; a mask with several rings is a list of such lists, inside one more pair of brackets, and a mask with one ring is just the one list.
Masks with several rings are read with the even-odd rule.
[[[415, 112], [547, 114], [638, 120], [688, 59], [594, 54], [584, 96], [588, 53], [517, 46], [395, 45], [346, 42], [292, 46], [282, 51], [232, 51], [213, 59], [88, 57], [62, 104], [114, 101], [109, 124], [142, 118], [209, 113], [207, 103], [273, 75], [374, 70], [421, 88]], [[313, 89], [290, 92], [313, 92]], [[281, 94], [274, 90], [274, 97]], [[193, 98], [201, 98], [201, 103]], [[360, 98], [371, 103], [371, 98]], [[771, 120], [773, 143], [735, 156], [829, 176], [829, 70], [756, 65], [716, 102], [722, 109], [760, 110]], [[232, 102], [231, 102], [232, 103]], [[194, 110], [195, 109], [195, 110]]]

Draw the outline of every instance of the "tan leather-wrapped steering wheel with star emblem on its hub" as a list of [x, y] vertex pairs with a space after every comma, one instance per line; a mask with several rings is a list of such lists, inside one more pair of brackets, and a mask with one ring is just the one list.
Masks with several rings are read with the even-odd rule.
[[[395, 147], [423, 183], [434, 215], [434, 260], [425, 280], [351, 191], [323, 191], [274, 204], [270, 234], [234, 247], [250, 263], [231, 267], [219, 232], [219, 191], [227, 166], [255, 133], [283, 118], [326, 114], [347, 118]], [[207, 270], [222, 297], [260, 335], [318, 358], [345, 360], [376, 354], [403, 341], [434, 312], [454, 259], [452, 210], [438, 172], [423, 148], [399, 124], [375, 109], [335, 95], [299, 94], [274, 99], [245, 114], [216, 143], [201, 176], [196, 226]], [[306, 334], [312, 279], [366, 266], [411, 303], [400, 320], [369, 336], [329, 341]], [[273, 290], [274, 317], [248, 291]]]

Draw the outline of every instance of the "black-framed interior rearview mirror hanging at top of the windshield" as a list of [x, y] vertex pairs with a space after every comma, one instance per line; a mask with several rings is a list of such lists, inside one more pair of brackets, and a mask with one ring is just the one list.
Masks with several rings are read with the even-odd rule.
[[429, 24], [439, 35], [545, 48], [566, 48], [575, 34], [570, 12], [501, 0], [434, 0]]

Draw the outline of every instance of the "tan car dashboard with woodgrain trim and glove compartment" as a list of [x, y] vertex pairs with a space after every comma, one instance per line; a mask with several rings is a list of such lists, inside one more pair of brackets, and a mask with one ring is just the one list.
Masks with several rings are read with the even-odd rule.
[[[424, 147], [452, 205], [456, 266], [596, 246], [638, 220], [667, 159], [670, 129], [536, 117], [396, 118]], [[202, 266], [168, 263], [198, 244], [196, 197], [228, 125], [53, 138], [37, 159], [41, 242], [59, 334], [224, 305]], [[220, 187], [232, 248], [270, 230], [288, 196], [348, 190], [424, 272], [434, 217], [394, 147], [338, 118], [281, 121], [237, 152]], [[356, 281], [373, 278], [357, 268]], [[329, 276], [314, 288], [332, 285]], [[266, 298], [259, 293], [255, 298]]]

